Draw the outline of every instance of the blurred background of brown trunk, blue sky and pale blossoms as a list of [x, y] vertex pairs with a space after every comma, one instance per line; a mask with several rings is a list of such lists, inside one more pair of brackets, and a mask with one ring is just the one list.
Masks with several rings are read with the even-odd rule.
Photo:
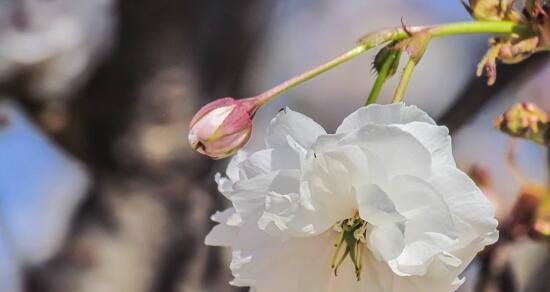
[[[239, 291], [227, 253], [203, 244], [226, 203], [213, 176], [227, 160], [190, 149], [193, 113], [260, 93], [401, 19], [469, 18], [458, 0], [0, 0], [0, 292]], [[406, 100], [449, 127], [459, 165], [483, 178], [504, 220], [520, 184], [493, 120], [523, 100], [550, 110], [550, 66], [547, 55], [500, 66], [488, 88], [474, 77], [486, 47], [484, 36], [433, 41]], [[247, 147], [261, 147], [283, 106], [334, 130], [363, 104], [372, 58], [262, 108]], [[525, 175], [547, 183], [547, 150], [515, 148]], [[544, 245], [520, 237], [486, 258], [461, 291], [550, 291]]]

